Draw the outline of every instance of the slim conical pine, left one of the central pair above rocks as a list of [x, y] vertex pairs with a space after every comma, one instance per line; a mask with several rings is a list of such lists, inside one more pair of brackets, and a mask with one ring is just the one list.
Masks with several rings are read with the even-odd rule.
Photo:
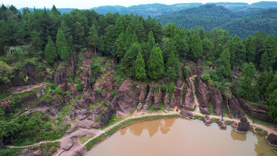
[[140, 51], [138, 52], [135, 60], [135, 78], [140, 80], [140, 82], [141, 80], [146, 79], [145, 64]]

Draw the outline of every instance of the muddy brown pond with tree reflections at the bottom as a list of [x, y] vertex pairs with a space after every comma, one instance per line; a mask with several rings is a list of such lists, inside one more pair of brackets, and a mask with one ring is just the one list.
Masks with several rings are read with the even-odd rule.
[[238, 133], [200, 120], [160, 119], [127, 126], [94, 146], [86, 156], [100, 155], [275, 155], [261, 135]]

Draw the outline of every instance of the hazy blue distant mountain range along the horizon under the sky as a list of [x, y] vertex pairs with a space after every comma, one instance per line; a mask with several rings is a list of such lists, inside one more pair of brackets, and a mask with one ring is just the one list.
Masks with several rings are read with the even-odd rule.
[[[247, 3], [206, 3], [206, 4], [215, 4], [217, 6], [223, 6], [228, 10], [234, 11], [234, 12], [247, 12], [252, 10], [261, 10], [261, 9], [267, 9], [267, 8], [274, 8], [277, 7], [277, 2], [258, 2], [253, 3], [251, 5]], [[99, 14], [106, 14], [108, 12], [115, 13], [118, 12], [120, 14], [137, 14], [142, 15], [143, 17], [150, 16], [159, 16], [164, 14], [169, 14], [176, 11], [185, 10], [188, 8], [193, 7], [199, 7], [206, 4], [202, 3], [180, 3], [180, 4], [173, 4], [173, 5], [165, 5], [165, 4], [145, 4], [145, 5], [136, 5], [136, 6], [130, 6], [130, 7], [124, 7], [124, 6], [100, 6], [100, 7], [94, 7], [90, 10], [95, 10]], [[18, 9], [19, 11], [22, 11], [24, 8]], [[33, 8], [29, 8], [31, 11]], [[49, 9], [50, 10], [50, 9]], [[73, 10], [73, 8], [57, 8], [58, 11], [61, 11], [61, 13], [68, 13]]]

